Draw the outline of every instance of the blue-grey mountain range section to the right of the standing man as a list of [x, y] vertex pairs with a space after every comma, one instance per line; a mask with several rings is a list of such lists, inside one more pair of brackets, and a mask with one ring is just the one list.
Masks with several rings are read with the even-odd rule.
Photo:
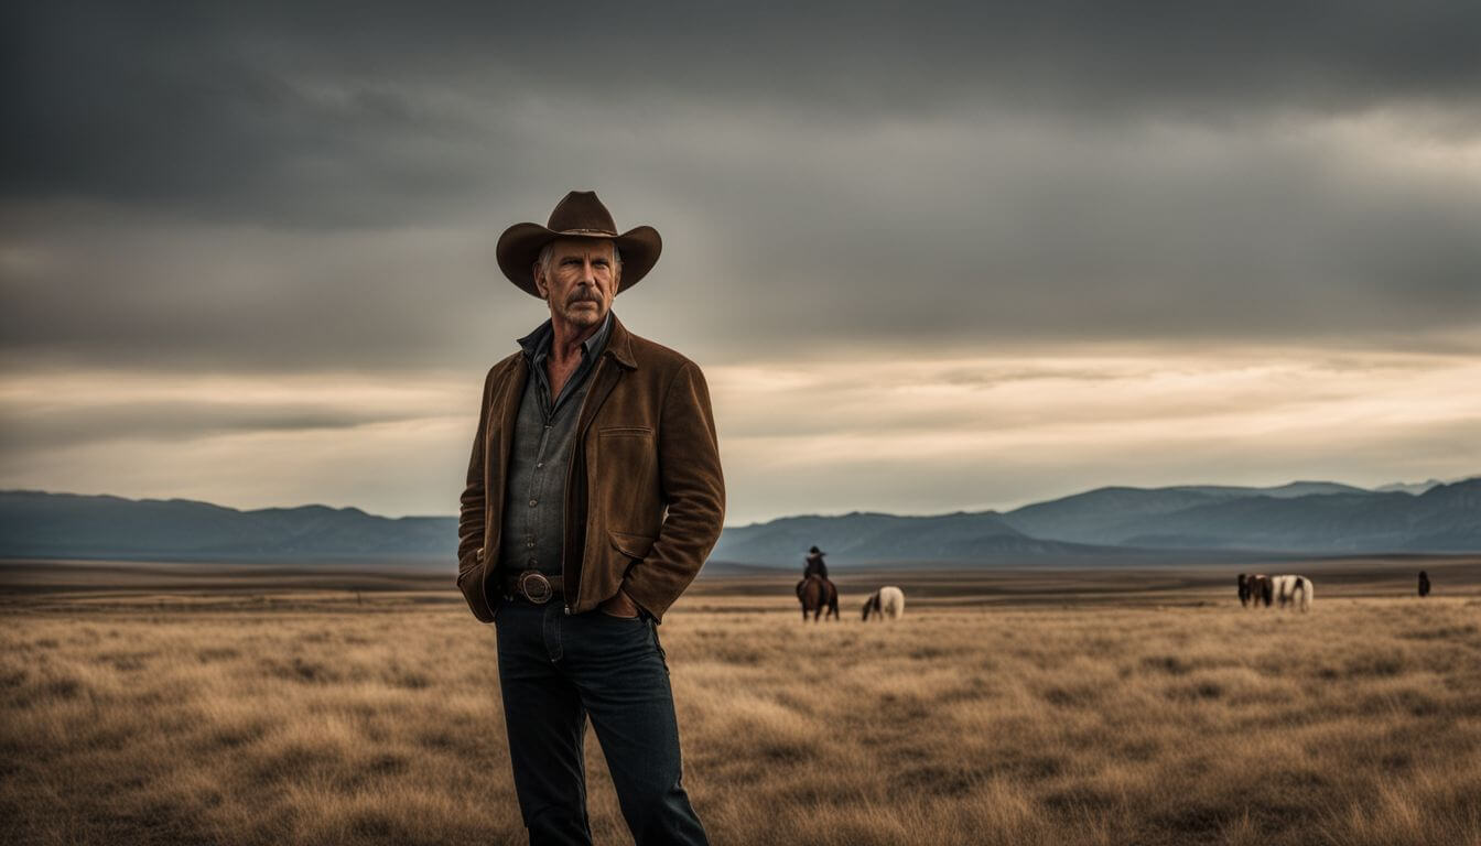
[[818, 544], [850, 562], [1246, 550], [1312, 554], [1481, 551], [1481, 477], [1425, 493], [1330, 482], [1280, 487], [1099, 487], [1007, 513], [852, 513], [729, 527], [712, 559], [792, 562]]

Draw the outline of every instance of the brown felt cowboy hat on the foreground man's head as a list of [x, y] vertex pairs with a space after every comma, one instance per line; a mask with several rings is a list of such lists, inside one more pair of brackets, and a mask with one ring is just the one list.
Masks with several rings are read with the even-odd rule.
[[647, 271], [658, 264], [658, 253], [663, 252], [663, 239], [658, 237], [658, 230], [653, 227], [637, 227], [619, 236], [612, 213], [597, 199], [595, 191], [572, 191], [555, 204], [546, 225], [514, 224], [504, 230], [499, 246], [495, 247], [499, 270], [526, 293], [539, 296], [541, 292], [535, 287], [535, 259], [539, 258], [541, 249], [555, 239], [607, 239], [618, 244], [622, 253], [619, 293], [647, 276]]

